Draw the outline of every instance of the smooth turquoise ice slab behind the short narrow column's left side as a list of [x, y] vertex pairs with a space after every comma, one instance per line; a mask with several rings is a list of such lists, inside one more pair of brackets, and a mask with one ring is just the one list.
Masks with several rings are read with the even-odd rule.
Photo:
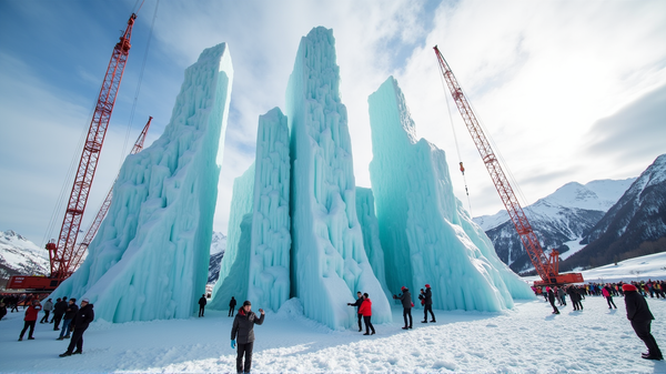
[[209, 304], [211, 309], [228, 310], [231, 296], [235, 297], [239, 305], [242, 305], [248, 297], [254, 168], [254, 163], [252, 163], [241, 176], [233, 181], [226, 250], [220, 264], [220, 277], [213, 287], [212, 300]]

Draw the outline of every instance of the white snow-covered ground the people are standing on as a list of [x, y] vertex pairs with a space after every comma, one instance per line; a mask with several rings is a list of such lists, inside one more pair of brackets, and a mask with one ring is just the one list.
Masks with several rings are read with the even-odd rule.
[[[604, 279], [636, 280], [640, 271], [647, 280], [647, 267], [662, 269], [664, 279], [666, 253], [625, 261]], [[656, 319], [652, 332], [664, 350], [666, 301], [647, 302]], [[587, 296], [583, 311], [574, 312], [568, 303], [559, 315], [552, 314], [543, 297], [518, 301], [498, 313], [435, 310], [436, 324], [418, 323], [422, 310], [414, 310], [414, 330], [407, 332], [400, 328], [402, 307], [393, 304], [394, 322], [375, 324], [377, 334], [363, 336], [353, 327], [334, 331], [309, 320], [299, 301], [290, 300], [255, 326], [253, 372], [665, 373], [666, 362], [640, 358], [645, 345], [626, 319], [622, 297], [615, 303], [618, 309], [608, 310], [603, 297]], [[98, 320], [85, 332], [83, 354], [64, 358], [58, 354], [69, 342], [56, 341], [52, 325], [37, 324], [34, 341], [17, 342], [22, 315], [9, 313], [0, 321], [2, 372], [235, 371], [235, 350], [229, 344], [232, 319], [225, 311], [188, 320]]]

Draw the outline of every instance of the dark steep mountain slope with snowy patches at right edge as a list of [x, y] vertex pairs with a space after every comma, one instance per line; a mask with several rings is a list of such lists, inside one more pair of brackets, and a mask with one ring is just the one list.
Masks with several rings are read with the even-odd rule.
[[[598, 266], [666, 250], [666, 154], [658, 156], [582, 241], [563, 266]], [[642, 245], [643, 244], [643, 245]]]

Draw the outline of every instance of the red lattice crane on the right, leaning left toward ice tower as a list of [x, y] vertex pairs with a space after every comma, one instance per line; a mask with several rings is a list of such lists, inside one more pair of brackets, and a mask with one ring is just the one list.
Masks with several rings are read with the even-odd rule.
[[453, 75], [453, 71], [448, 67], [448, 63], [446, 63], [446, 60], [444, 60], [444, 57], [440, 53], [437, 46], [434, 47], [434, 50], [437, 55], [437, 61], [440, 62], [440, 72], [444, 77], [446, 85], [448, 85], [453, 101], [455, 101], [455, 104], [463, 117], [463, 121], [472, 135], [472, 140], [476, 144], [476, 149], [481, 154], [483, 163], [491, 174], [491, 179], [495, 184], [495, 189], [497, 189], [497, 193], [500, 193], [500, 198], [506, 208], [506, 212], [521, 236], [521, 241], [527, 251], [527, 255], [529, 255], [529, 260], [532, 260], [536, 273], [542, 279], [539, 282], [534, 282], [535, 285], [583, 282], [583, 274], [581, 273], [559, 274], [559, 252], [552, 250], [549, 259], [546, 257], [538, 237], [536, 237], [536, 234], [532, 230], [532, 225], [529, 224], [529, 221], [527, 221], [527, 216], [525, 215], [525, 212], [523, 212], [523, 208], [511, 188], [508, 179], [504, 174], [500, 161], [495, 156], [495, 152], [493, 152], [493, 149], [491, 148], [491, 143], [486, 139], [481, 124], [476, 120], [476, 115], [474, 115], [474, 112], [467, 102], [467, 98], [465, 98], [463, 90]]

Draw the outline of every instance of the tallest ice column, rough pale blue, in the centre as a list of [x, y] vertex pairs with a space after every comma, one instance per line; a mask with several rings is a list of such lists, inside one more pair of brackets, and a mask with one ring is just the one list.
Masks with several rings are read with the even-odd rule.
[[332, 30], [301, 39], [286, 90], [291, 131], [292, 295], [331, 328], [352, 325], [355, 292], [370, 294], [373, 321], [391, 321], [389, 301], [363, 249], [346, 108]]

